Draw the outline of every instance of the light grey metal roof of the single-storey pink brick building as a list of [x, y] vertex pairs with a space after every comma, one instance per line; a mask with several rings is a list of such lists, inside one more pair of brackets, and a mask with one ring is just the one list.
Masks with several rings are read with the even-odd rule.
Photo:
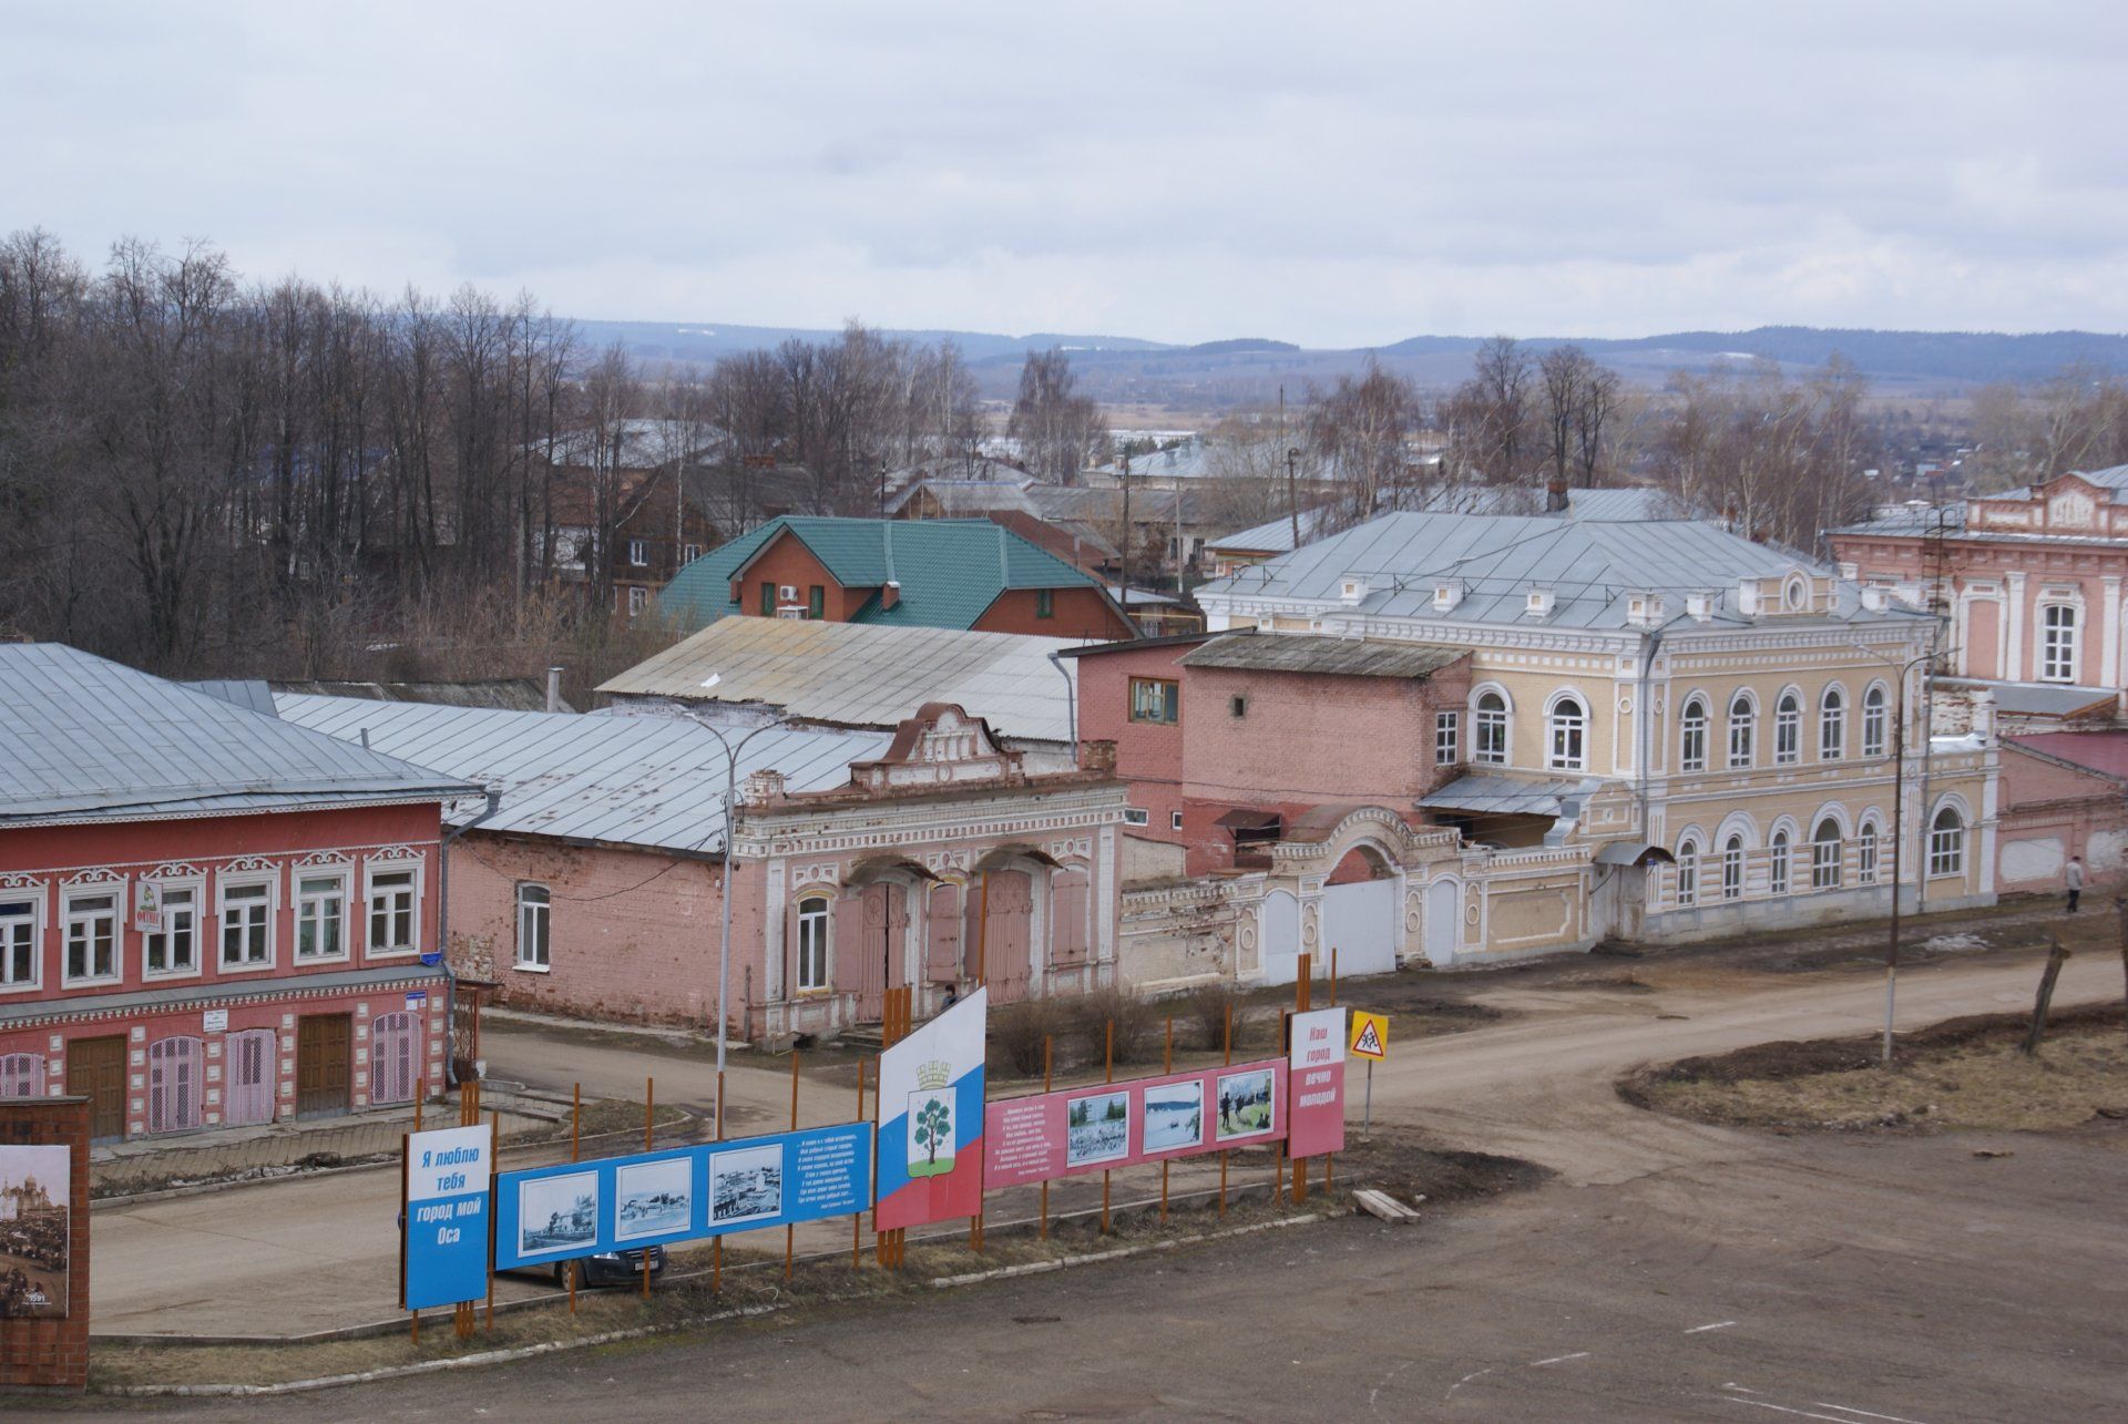
[[[732, 619], [755, 622], [755, 619]], [[768, 619], [762, 619], [768, 622]], [[279, 694], [281, 719], [436, 766], [502, 792], [481, 830], [702, 854], [724, 847], [724, 747], [685, 717], [585, 717], [428, 702]], [[738, 779], [783, 773], [794, 792], [845, 785], [849, 764], [877, 758], [883, 732], [777, 728], [753, 736]], [[734, 739], [736, 743], [736, 739]], [[460, 800], [445, 819], [481, 813]]]

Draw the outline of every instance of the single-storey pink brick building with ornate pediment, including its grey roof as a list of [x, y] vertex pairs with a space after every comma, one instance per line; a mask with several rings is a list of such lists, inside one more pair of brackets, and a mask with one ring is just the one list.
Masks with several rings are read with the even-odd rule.
[[[1104, 756], [1028, 773], [953, 705], [892, 736], [687, 717], [281, 698], [283, 715], [500, 788], [451, 849], [451, 962], [500, 1003], [709, 1026], [724, 856], [728, 1022], [749, 1039], [877, 1022], [987, 983], [1000, 1000], [1115, 977], [1124, 788]], [[726, 832], [726, 751], [736, 824]], [[1098, 751], [1098, 749], [1096, 749]]]

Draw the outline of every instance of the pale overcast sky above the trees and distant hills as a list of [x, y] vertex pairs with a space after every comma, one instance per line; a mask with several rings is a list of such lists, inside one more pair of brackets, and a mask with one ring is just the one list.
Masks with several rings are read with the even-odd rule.
[[2124, 81], [2119, 0], [0, 0], [0, 230], [572, 317], [2119, 332]]

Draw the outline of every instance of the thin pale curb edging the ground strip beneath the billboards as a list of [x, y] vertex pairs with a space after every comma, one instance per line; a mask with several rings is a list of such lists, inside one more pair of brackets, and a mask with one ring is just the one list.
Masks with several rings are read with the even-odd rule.
[[[1070, 1215], [1081, 1215], [1081, 1213], [1070, 1213]], [[1300, 1215], [1287, 1215], [1287, 1218], [1279, 1218], [1275, 1222], [1253, 1222], [1249, 1226], [1228, 1226], [1224, 1230], [1198, 1232], [1194, 1237], [1175, 1237], [1170, 1241], [1147, 1241], [1147, 1243], [1141, 1243], [1141, 1245], [1124, 1245], [1124, 1247], [1115, 1247], [1115, 1249], [1109, 1249], [1109, 1252], [1094, 1252], [1092, 1256], [1066, 1256], [1062, 1260], [1032, 1260], [1032, 1262], [1024, 1262], [1024, 1264], [1017, 1264], [1017, 1266], [998, 1266], [994, 1271], [970, 1271], [970, 1273], [964, 1273], [964, 1275], [936, 1275], [936, 1277], [928, 1279], [924, 1286], [926, 1286], [926, 1290], [960, 1290], [964, 1286], [981, 1286], [985, 1281], [1002, 1281], [1002, 1279], [1013, 1279], [1013, 1277], [1021, 1277], [1021, 1275], [1045, 1275], [1045, 1273], [1051, 1273], [1051, 1271], [1064, 1271], [1068, 1266], [1092, 1266], [1092, 1264], [1104, 1264], [1104, 1262], [1113, 1262], [1113, 1260], [1128, 1260], [1132, 1256], [1153, 1256], [1153, 1254], [1160, 1254], [1160, 1252], [1175, 1252], [1175, 1249], [1181, 1249], [1185, 1245], [1207, 1245], [1211, 1241], [1228, 1241], [1228, 1239], [1234, 1239], [1234, 1237], [1249, 1237], [1249, 1235], [1256, 1235], [1256, 1232], [1262, 1232], [1262, 1230], [1283, 1230], [1287, 1226], [1309, 1226], [1313, 1222], [1332, 1222], [1332, 1220], [1336, 1220], [1341, 1215], [1351, 1215], [1351, 1211], [1349, 1209], [1343, 1209], [1343, 1211], [1302, 1211]], [[1028, 1224], [1032, 1224], [1032, 1222], [1028, 1222]], [[1019, 1224], [1017, 1222], [1015, 1224], [1000, 1224], [1000, 1228], [1004, 1228], [1004, 1226], [1019, 1226]], [[921, 1237], [917, 1239], [917, 1243], [921, 1245]], [[821, 1260], [821, 1258], [828, 1258], [828, 1256], [841, 1256], [841, 1254], [843, 1252], [828, 1252], [828, 1254], [815, 1256], [813, 1260]], [[747, 1262], [747, 1264], [772, 1264], [772, 1262]], [[741, 1266], [741, 1269], [745, 1269], [745, 1266]], [[689, 1273], [689, 1275], [702, 1275], [702, 1273]], [[536, 1296], [534, 1301], [549, 1301], [549, 1298], [551, 1296]], [[530, 1303], [532, 1301], [521, 1303], [521, 1305], [530, 1305]], [[832, 1303], [834, 1301], [824, 1301], [821, 1305], [832, 1305]], [[304, 1392], [311, 1392], [311, 1390], [332, 1390], [332, 1388], [347, 1386], [347, 1384], [377, 1384], [377, 1381], [383, 1381], [383, 1379], [404, 1379], [409, 1375], [428, 1375], [428, 1373], [443, 1371], [443, 1369], [477, 1369], [477, 1367], [485, 1367], [485, 1364], [509, 1364], [513, 1360], [530, 1360], [530, 1358], [536, 1358], [536, 1356], [543, 1356], [543, 1354], [560, 1354], [560, 1352], [566, 1352], [566, 1350], [592, 1350], [592, 1347], [598, 1347], [598, 1345], [615, 1345], [615, 1343], [624, 1343], [624, 1341], [651, 1339], [655, 1335], [679, 1335], [679, 1332], [685, 1332], [685, 1330], [698, 1330], [702, 1326], [721, 1324], [726, 1320], [751, 1320], [751, 1318], [758, 1318], [758, 1315], [772, 1315], [772, 1313], [779, 1313], [779, 1311], [796, 1309], [798, 1305], [800, 1303], [792, 1303], [792, 1301], [777, 1303], [777, 1305], [745, 1305], [745, 1307], [730, 1309], [730, 1311], [715, 1311], [711, 1315], [694, 1315], [694, 1318], [687, 1318], [687, 1320], [675, 1320], [675, 1322], [658, 1324], [658, 1326], [636, 1326], [636, 1328], [630, 1328], [630, 1330], [606, 1330], [604, 1335], [589, 1335], [585, 1339], [575, 1339], [575, 1341], [541, 1341], [536, 1345], [517, 1345], [517, 1347], [511, 1347], [511, 1350], [483, 1350], [481, 1354], [453, 1356], [449, 1360], [419, 1360], [415, 1364], [392, 1364], [392, 1367], [385, 1367], [385, 1369], [370, 1369], [370, 1371], [360, 1371], [360, 1373], [353, 1373], [353, 1375], [319, 1375], [315, 1379], [285, 1379], [281, 1384], [117, 1384], [117, 1386], [89, 1388], [89, 1394], [109, 1394], [109, 1396], [117, 1396], [117, 1398], [198, 1398], [198, 1396], [221, 1396], [221, 1398], [240, 1396], [240, 1398], [255, 1398], [255, 1396], [270, 1396], [270, 1394], [304, 1394]], [[375, 1326], [355, 1326], [355, 1328], [368, 1332]], [[404, 1320], [389, 1322], [389, 1328], [404, 1328]], [[109, 1337], [102, 1337], [102, 1339], [109, 1339]], [[187, 1337], [130, 1337], [128, 1343], [134, 1343], [134, 1341], [172, 1343], [172, 1341], [185, 1341], [185, 1339]], [[283, 1339], [283, 1337], [270, 1337], [270, 1339], [272, 1339], [272, 1343], [300, 1343], [304, 1337], [287, 1337], [287, 1339]], [[113, 1343], [117, 1343], [117, 1341], [113, 1341]], [[215, 1339], [192, 1337], [187, 1343], [209, 1345], [209, 1343], [217, 1343], [217, 1341]], [[228, 1343], [264, 1343], [264, 1341], [243, 1339], [243, 1337], [228, 1337]]]

